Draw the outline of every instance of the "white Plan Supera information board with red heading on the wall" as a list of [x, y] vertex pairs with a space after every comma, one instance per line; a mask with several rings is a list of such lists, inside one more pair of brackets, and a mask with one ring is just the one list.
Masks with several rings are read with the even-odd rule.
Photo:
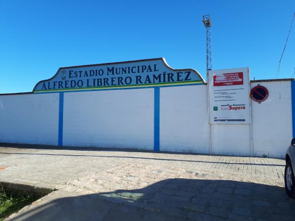
[[211, 124], [249, 124], [249, 68], [208, 71]]

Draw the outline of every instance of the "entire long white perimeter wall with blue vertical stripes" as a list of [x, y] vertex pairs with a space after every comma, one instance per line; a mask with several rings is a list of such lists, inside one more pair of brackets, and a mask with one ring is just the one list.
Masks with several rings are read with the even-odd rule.
[[291, 82], [251, 82], [269, 97], [251, 100], [250, 125], [210, 125], [207, 84], [4, 94], [0, 142], [281, 158], [293, 138]]

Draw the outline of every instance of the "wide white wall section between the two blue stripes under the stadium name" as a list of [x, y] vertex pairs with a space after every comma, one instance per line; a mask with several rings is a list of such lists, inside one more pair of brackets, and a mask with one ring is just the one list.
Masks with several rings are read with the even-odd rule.
[[154, 89], [64, 93], [63, 145], [153, 149]]

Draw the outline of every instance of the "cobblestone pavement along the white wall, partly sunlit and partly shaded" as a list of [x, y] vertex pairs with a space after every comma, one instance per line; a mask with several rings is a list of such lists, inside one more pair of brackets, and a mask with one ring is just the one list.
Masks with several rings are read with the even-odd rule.
[[295, 200], [283, 187], [284, 165], [269, 158], [0, 148], [0, 181], [88, 194], [177, 220], [294, 221]]

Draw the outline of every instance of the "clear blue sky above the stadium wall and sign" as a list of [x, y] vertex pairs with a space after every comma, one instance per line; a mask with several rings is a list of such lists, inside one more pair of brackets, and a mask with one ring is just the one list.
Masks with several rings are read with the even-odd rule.
[[[206, 79], [206, 28], [212, 69], [250, 67], [273, 79], [295, 0], [0, 0], [0, 93], [28, 92], [59, 67], [165, 57]], [[278, 78], [295, 68], [295, 24]]]

